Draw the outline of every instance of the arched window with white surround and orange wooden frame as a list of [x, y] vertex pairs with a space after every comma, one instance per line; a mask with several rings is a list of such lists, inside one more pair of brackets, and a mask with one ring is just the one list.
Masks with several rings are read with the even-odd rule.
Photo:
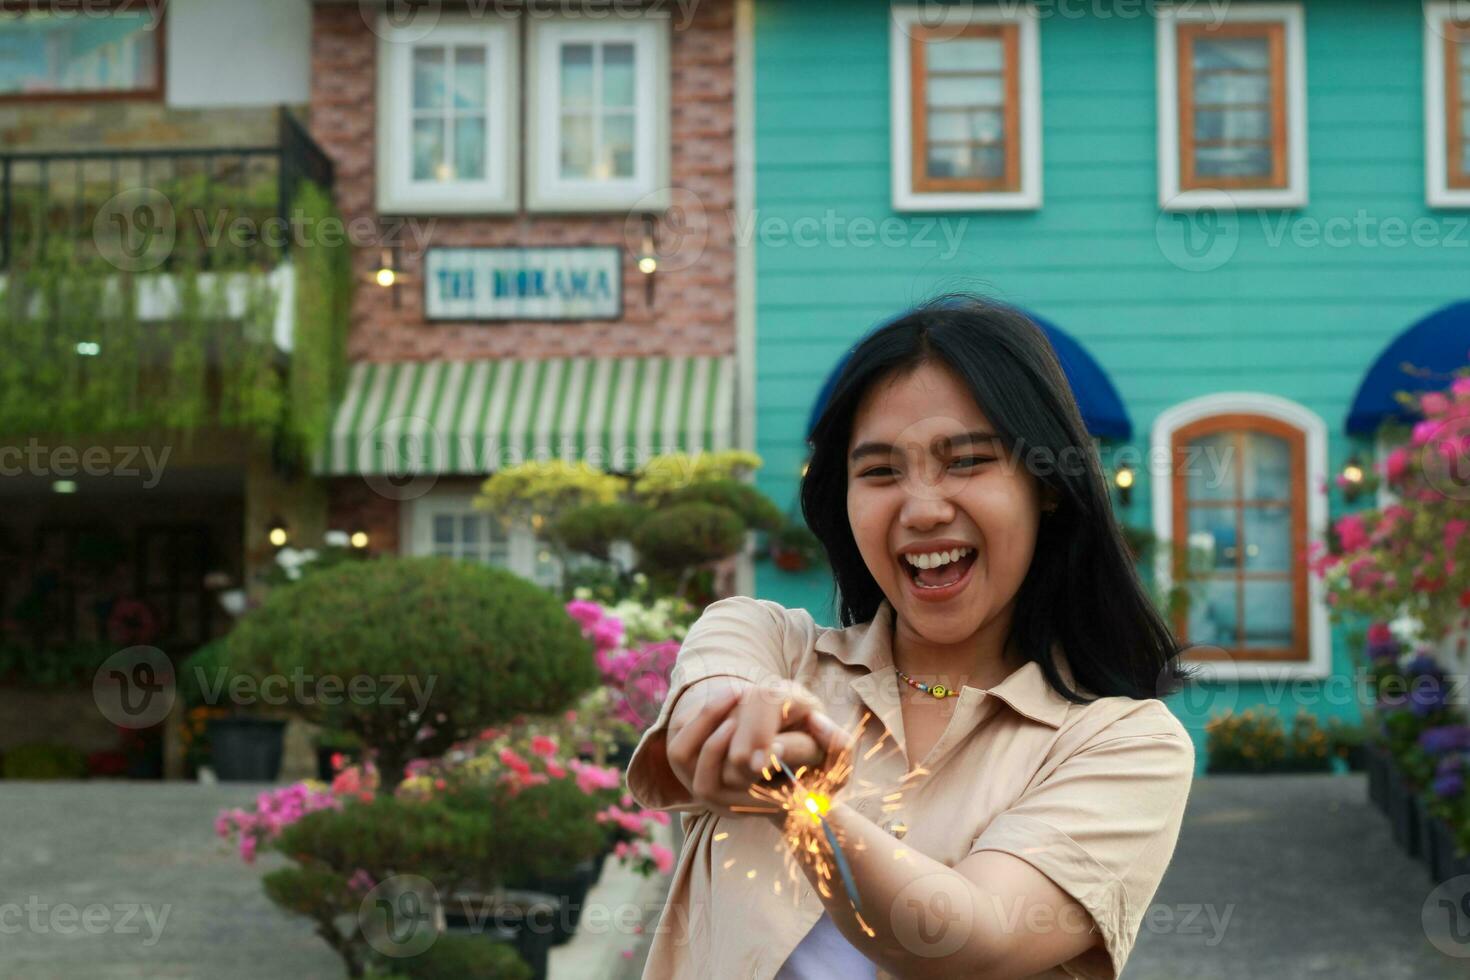
[[[1202, 677], [1323, 677], [1332, 633], [1307, 552], [1327, 526], [1327, 426], [1261, 392], [1217, 392], [1154, 420], [1170, 469], [1152, 480], [1155, 580], [1189, 555], [1188, 610], [1173, 623]], [[1188, 545], [1188, 551], [1185, 548]]]

